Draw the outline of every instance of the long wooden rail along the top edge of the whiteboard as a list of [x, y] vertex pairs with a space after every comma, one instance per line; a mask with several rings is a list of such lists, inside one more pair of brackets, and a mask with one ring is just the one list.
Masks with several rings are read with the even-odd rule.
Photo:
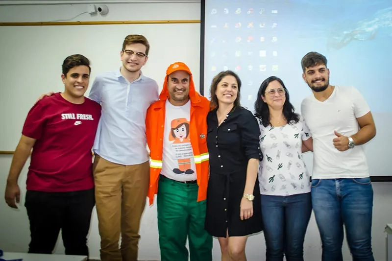
[[200, 20], [146, 20], [146, 21], [75, 21], [75, 22], [7, 22], [0, 26], [100, 25], [100, 24], [200, 24]]

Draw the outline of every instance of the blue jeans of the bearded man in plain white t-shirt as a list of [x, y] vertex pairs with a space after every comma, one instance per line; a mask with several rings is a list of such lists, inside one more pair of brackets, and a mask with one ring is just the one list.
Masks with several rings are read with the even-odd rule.
[[353, 261], [374, 261], [370, 178], [314, 179], [312, 205], [321, 237], [322, 261], [343, 261], [343, 224]]

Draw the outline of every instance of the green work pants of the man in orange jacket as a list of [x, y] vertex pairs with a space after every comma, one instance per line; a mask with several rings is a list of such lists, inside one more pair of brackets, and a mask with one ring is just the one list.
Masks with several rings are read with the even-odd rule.
[[197, 202], [197, 184], [160, 175], [157, 195], [161, 261], [212, 261], [212, 237], [204, 230], [206, 201]]

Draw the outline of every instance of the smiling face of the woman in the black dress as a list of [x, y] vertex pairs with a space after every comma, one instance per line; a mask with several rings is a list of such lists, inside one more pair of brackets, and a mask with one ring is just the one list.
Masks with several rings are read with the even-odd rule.
[[226, 75], [218, 83], [215, 95], [219, 103], [234, 104], [238, 94], [237, 79], [232, 75]]

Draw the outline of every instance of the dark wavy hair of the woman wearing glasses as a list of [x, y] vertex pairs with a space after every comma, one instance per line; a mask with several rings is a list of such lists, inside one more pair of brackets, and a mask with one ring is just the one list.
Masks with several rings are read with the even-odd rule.
[[264, 102], [261, 96], [262, 95], [265, 96], [268, 85], [270, 84], [270, 82], [273, 81], [278, 81], [286, 91], [285, 93], [286, 101], [283, 104], [283, 115], [286, 118], [287, 123], [290, 124], [293, 122], [294, 123], [298, 122], [299, 115], [294, 113], [294, 106], [290, 103], [289, 92], [287, 91], [283, 81], [276, 76], [268, 77], [260, 85], [259, 92], [257, 93], [257, 99], [256, 102], [254, 103], [255, 116], [261, 119], [261, 122], [263, 123], [264, 127], [270, 125], [270, 109], [268, 108], [267, 103]]

